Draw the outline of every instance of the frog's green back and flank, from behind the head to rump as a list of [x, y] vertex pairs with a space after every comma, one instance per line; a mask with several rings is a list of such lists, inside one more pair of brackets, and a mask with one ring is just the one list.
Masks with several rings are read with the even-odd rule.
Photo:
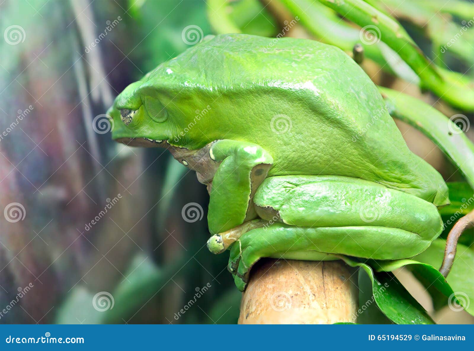
[[219, 35], [169, 67], [185, 68], [177, 81], [212, 105], [208, 136], [260, 144], [275, 160], [271, 175], [346, 175], [447, 202], [442, 177], [410, 152], [377, 87], [335, 46]]

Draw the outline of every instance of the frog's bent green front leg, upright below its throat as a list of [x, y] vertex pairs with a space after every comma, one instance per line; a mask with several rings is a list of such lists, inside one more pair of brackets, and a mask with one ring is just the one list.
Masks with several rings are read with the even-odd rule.
[[227, 139], [214, 142], [209, 154], [221, 162], [212, 180], [208, 212], [210, 233], [218, 234], [256, 217], [252, 199], [273, 159], [257, 144]]

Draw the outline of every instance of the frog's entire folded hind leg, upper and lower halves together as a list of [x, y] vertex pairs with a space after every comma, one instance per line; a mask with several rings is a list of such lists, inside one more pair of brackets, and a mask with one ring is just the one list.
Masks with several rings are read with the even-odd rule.
[[241, 290], [261, 257], [401, 259], [424, 251], [442, 229], [432, 203], [350, 177], [270, 177], [254, 202], [261, 223], [230, 252], [228, 268]]

